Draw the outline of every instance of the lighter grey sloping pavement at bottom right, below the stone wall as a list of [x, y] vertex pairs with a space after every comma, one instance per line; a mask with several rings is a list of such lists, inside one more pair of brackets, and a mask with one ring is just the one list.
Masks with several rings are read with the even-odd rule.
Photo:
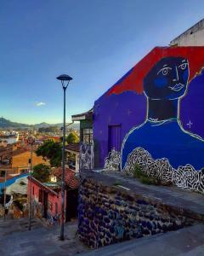
[[125, 241], [80, 256], [204, 256], [204, 225]]

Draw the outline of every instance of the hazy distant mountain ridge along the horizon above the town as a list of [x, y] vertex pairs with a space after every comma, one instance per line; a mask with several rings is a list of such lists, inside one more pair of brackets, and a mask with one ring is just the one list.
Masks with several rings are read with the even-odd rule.
[[[42, 122], [40, 124], [36, 125], [27, 125], [27, 124], [21, 124], [17, 122], [12, 122], [8, 119], [4, 119], [3, 117], [0, 118], [0, 129], [26, 129], [26, 128], [34, 128], [34, 129], [39, 129], [39, 128], [47, 128], [49, 126], [58, 126], [61, 128], [63, 125], [62, 124], [48, 124], [46, 122]], [[72, 124], [69, 126], [72, 129], [79, 129], [78, 124]]]

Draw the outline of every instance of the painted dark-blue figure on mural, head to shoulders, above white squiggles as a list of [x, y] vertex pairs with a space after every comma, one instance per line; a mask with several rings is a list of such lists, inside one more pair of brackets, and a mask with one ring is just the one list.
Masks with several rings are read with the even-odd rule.
[[167, 158], [173, 168], [190, 164], [204, 167], [204, 141], [184, 131], [179, 120], [181, 98], [187, 92], [189, 62], [182, 57], [158, 61], [144, 78], [147, 116], [133, 127], [122, 143], [122, 169], [135, 148], [144, 148], [154, 159]]

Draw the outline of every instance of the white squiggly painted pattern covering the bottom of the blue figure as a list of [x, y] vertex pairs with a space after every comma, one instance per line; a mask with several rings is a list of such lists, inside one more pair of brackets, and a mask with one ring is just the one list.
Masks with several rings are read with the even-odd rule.
[[195, 171], [193, 166], [173, 168], [166, 158], [154, 160], [144, 148], [135, 148], [128, 154], [123, 172], [133, 176], [135, 165], [139, 165], [147, 176], [156, 177], [175, 184], [179, 188], [192, 189], [204, 193], [204, 171]]

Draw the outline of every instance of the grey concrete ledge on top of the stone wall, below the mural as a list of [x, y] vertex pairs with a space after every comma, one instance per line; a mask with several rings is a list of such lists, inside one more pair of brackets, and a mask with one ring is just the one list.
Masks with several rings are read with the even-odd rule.
[[[178, 189], [174, 186], [154, 186], [140, 183], [137, 178], [127, 177], [122, 172], [81, 172], [81, 181], [89, 180], [90, 183], [99, 183], [109, 190], [109, 193], [120, 191], [128, 195], [129, 199], [142, 198], [144, 201], [171, 207], [174, 212], [181, 213], [189, 218], [204, 220], [204, 196], [192, 191]], [[120, 184], [119, 186], [115, 184]], [[127, 189], [122, 189], [125, 187]]]

